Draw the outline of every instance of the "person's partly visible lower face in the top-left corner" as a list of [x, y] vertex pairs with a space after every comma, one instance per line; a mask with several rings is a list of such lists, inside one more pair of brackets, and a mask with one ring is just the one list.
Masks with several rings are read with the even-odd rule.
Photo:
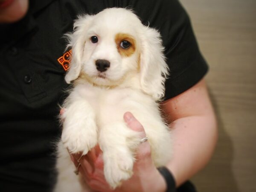
[[28, 0], [0, 0], [0, 23], [14, 23], [22, 19], [28, 8]]

